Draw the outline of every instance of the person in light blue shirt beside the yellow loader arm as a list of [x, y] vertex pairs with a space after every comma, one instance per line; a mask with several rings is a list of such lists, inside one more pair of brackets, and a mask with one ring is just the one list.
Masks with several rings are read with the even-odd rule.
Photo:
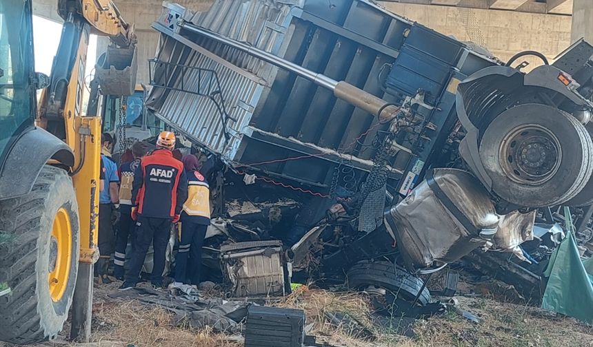
[[99, 190], [99, 261], [95, 271], [99, 276], [99, 283], [110, 283], [108, 277], [109, 259], [114, 252], [115, 235], [112, 224], [113, 204], [119, 204], [119, 177], [117, 164], [110, 155], [113, 138], [104, 133], [101, 136], [101, 167], [105, 182], [103, 189]]

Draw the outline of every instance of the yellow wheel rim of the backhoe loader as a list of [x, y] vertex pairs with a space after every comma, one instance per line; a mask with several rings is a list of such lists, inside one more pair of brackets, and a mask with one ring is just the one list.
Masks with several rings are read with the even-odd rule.
[[72, 226], [70, 215], [61, 208], [56, 213], [50, 238], [49, 286], [54, 302], [66, 292], [72, 257]]

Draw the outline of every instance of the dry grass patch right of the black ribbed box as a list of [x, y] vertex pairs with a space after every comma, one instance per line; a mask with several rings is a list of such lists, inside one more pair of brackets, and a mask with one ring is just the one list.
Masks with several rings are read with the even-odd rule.
[[[496, 302], [492, 299], [459, 297], [459, 306], [449, 313], [428, 320], [419, 320], [414, 326], [416, 337], [394, 334], [369, 319], [372, 310], [368, 297], [359, 293], [330, 293], [301, 288], [276, 306], [302, 308], [312, 323], [312, 334], [323, 337], [337, 346], [381, 347], [593, 347], [593, 328], [568, 317], [556, 317], [540, 308]], [[461, 316], [470, 311], [481, 319], [480, 324]], [[356, 339], [343, 329], [329, 324], [323, 313], [342, 311], [359, 319], [377, 336], [369, 343]]]

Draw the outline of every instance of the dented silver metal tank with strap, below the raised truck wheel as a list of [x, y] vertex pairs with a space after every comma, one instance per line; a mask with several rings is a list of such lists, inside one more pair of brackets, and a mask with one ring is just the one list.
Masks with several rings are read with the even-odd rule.
[[458, 169], [429, 171], [427, 180], [392, 207], [387, 218], [410, 271], [459, 260], [491, 239], [499, 223], [488, 192]]

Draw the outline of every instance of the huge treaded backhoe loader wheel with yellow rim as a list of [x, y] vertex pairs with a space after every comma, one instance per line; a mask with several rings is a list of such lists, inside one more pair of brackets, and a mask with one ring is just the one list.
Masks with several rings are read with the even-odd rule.
[[46, 165], [26, 196], [0, 202], [0, 341], [32, 344], [62, 330], [79, 260], [79, 215], [72, 179]]

